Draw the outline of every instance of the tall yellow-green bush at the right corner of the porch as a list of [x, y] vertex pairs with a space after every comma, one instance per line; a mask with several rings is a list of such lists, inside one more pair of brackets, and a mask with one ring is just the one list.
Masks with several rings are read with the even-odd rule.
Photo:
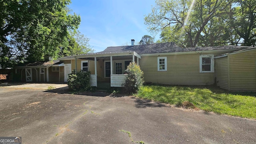
[[139, 88], [144, 83], [143, 72], [140, 70], [140, 66], [138, 66], [135, 62], [130, 62], [125, 72], [128, 74], [124, 82], [124, 89], [126, 93], [138, 92]]

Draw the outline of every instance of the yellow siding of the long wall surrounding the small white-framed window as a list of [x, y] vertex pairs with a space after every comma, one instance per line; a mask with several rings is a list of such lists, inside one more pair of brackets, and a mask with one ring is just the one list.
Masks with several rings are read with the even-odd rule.
[[157, 70], [157, 57], [143, 56], [139, 62], [144, 72], [145, 82], [182, 85], [214, 84], [214, 72], [200, 73], [200, 54], [167, 56], [167, 71]]

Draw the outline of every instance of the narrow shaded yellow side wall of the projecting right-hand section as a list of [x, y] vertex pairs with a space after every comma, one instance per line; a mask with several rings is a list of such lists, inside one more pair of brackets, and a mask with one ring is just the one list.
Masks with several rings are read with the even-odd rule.
[[216, 83], [220, 88], [228, 89], [228, 57], [215, 60]]

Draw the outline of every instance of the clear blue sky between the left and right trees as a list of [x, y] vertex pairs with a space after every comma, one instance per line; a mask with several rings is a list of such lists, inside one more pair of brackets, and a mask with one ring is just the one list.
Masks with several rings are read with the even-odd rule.
[[[135, 44], [144, 35], [151, 35], [144, 17], [151, 12], [154, 0], [71, 0], [72, 12], [81, 16], [78, 30], [87, 38], [95, 52], [108, 46]], [[159, 35], [155, 40], [159, 39]]]

